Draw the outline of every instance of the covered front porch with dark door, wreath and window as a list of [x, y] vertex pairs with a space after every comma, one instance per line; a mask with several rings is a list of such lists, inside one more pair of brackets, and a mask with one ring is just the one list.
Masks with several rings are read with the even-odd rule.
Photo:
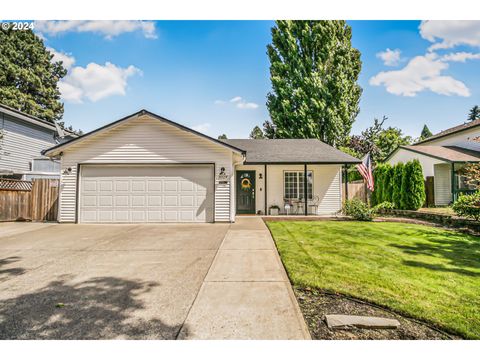
[[243, 164], [235, 167], [237, 215], [331, 216], [342, 208], [345, 164]]

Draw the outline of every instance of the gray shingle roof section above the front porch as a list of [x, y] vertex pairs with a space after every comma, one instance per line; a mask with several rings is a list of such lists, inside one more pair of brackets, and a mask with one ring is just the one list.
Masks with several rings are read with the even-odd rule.
[[225, 139], [245, 150], [248, 163], [331, 163], [353, 164], [360, 160], [317, 139]]

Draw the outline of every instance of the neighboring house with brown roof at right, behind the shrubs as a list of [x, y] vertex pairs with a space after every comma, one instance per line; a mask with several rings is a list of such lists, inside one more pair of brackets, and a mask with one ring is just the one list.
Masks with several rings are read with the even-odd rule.
[[390, 164], [418, 159], [425, 178], [433, 177], [435, 205], [448, 205], [459, 193], [474, 191], [459, 170], [480, 162], [480, 119], [452, 127], [414, 145], [400, 146], [386, 161]]

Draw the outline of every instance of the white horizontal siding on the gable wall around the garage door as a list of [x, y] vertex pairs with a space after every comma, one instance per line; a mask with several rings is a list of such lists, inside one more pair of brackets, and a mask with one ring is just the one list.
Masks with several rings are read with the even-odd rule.
[[[76, 213], [77, 164], [178, 164], [215, 163], [232, 173], [231, 151], [208, 139], [169, 125], [148, 115], [124, 123], [72, 145], [64, 151], [60, 191], [61, 222], [74, 222]], [[230, 221], [230, 186], [215, 185], [215, 221]]]

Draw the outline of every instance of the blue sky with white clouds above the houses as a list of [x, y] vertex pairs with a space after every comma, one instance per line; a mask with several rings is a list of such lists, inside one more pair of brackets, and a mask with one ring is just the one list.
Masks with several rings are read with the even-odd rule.
[[[416, 137], [424, 123], [446, 129], [480, 104], [480, 22], [349, 24], [363, 62], [353, 133], [386, 115]], [[64, 120], [75, 128], [90, 131], [146, 108], [211, 136], [242, 138], [268, 119], [273, 21], [35, 25], [68, 65]]]

